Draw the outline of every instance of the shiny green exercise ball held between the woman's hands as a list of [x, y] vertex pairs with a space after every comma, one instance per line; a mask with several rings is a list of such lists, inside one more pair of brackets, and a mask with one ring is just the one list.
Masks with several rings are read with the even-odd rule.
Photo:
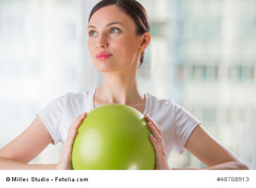
[[154, 169], [147, 122], [127, 105], [102, 105], [84, 118], [73, 142], [73, 169]]

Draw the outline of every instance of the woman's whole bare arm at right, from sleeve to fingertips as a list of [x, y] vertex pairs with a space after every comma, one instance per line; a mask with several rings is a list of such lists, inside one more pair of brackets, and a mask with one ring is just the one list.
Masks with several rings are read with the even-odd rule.
[[[156, 169], [169, 169], [166, 165], [166, 148], [160, 126], [147, 115], [145, 119], [148, 121], [148, 128], [152, 132], [150, 140], [154, 145], [156, 154]], [[207, 131], [201, 125], [198, 125], [190, 134], [184, 147], [207, 165], [207, 168], [188, 169], [248, 169], [247, 165], [242, 163], [234, 153], [219, 144], [210, 134], [207, 134]], [[172, 169], [178, 170], [181, 168]]]

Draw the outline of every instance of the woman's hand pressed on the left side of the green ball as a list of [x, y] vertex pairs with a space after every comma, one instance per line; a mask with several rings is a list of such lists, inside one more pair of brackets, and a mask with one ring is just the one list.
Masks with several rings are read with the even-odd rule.
[[76, 138], [78, 134], [78, 128], [80, 124], [83, 122], [84, 117], [86, 117], [87, 113], [81, 114], [77, 119], [71, 124], [68, 128], [67, 140], [65, 141], [61, 154], [61, 161], [56, 165], [56, 169], [58, 170], [72, 170], [71, 163], [71, 151], [73, 147], [73, 140]]

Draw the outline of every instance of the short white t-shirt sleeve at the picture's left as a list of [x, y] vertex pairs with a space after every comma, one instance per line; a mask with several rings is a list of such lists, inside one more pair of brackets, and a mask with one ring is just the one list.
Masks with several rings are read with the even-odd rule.
[[38, 117], [42, 119], [49, 134], [56, 145], [61, 140], [61, 121], [66, 103], [66, 95], [53, 100], [43, 110], [38, 111]]

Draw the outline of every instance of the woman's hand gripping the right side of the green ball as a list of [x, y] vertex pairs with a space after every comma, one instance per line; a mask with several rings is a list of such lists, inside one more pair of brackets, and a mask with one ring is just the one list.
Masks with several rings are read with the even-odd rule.
[[148, 122], [148, 128], [151, 131], [151, 135], [149, 136], [152, 144], [154, 145], [155, 151], [155, 169], [170, 169], [167, 164], [166, 158], [166, 145], [162, 138], [162, 133], [160, 130], [160, 126], [155, 123], [151, 117], [145, 115], [145, 119]]

